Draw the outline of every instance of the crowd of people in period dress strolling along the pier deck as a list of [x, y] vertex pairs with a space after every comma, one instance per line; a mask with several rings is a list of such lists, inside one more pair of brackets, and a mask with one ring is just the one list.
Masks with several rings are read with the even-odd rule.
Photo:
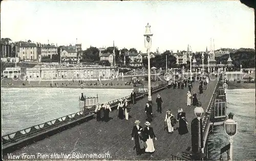
[[[207, 89], [207, 84], [209, 83], [208, 78], [199, 78], [199, 94], [202, 93], [203, 89]], [[170, 84], [168, 83], [168, 86]], [[184, 87], [188, 88], [187, 91], [187, 100], [186, 100], [186, 106], [189, 108], [191, 105], [196, 106], [198, 105], [198, 98], [196, 91], [191, 91], [193, 88], [192, 82], [188, 82], [186, 79], [184, 81], [180, 82], [174, 82], [172, 84], [174, 86], [174, 89], [176, 86], [180, 89], [184, 89]], [[169, 87], [168, 87], [169, 88]], [[132, 91], [130, 96], [131, 103], [136, 104], [136, 93]], [[156, 106], [157, 106], [157, 112], [162, 113], [162, 104], [165, 100], [162, 100], [160, 94], [157, 95], [156, 98]], [[184, 107], [186, 107], [184, 106]], [[118, 115], [117, 117], [120, 120], [129, 120], [129, 112], [131, 111], [131, 107], [129, 105], [129, 101], [127, 99], [119, 100], [118, 106]], [[147, 102], [144, 108], [146, 118], [145, 118], [145, 127], [143, 128], [140, 125], [140, 121], [136, 120], [135, 126], [133, 126], [132, 129], [132, 140], [135, 141], [134, 150], [136, 149], [137, 155], [141, 155], [143, 153], [150, 153], [151, 156], [155, 152], [154, 142], [153, 139], [157, 140], [156, 134], [154, 133], [153, 128], [151, 127], [151, 124], [153, 122], [153, 107], [151, 102]], [[97, 114], [97, 121], [105, 121], [108, 122], [110, 120], [109, 118], [109, 112], [111, 112], [110, 106], [105, 104], [98, 104], [95, 109], [95, 113]], [[170, 109], [167, 109], [165, 113], [164, 119], [164, 130], [166, 130], [168, 133], [174, 133], [175, 130], [178, 130], [178, 133], [180, 135], [184, 135], [188, 133], [188, 122], [186, 120], [186, 113], [183, 111], [182, 108], [179, 108], [177, 111], [177, 114], [173, 114]], [[175, 129], [176, 124], [179, 124], [179, 127]]]

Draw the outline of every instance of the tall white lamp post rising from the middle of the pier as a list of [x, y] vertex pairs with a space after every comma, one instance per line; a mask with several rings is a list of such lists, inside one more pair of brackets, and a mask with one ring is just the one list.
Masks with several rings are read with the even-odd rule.
[[147, 73], [148, 73], [148, 102], [152, 102], [152, 97], [151, 97], [151, 71], [150, 71], [150, 48], [151, 48], [151, 43], [152, 39], [151, 37], [153, 34], [150, 31], [150, 25], [146, 25], [146, 32], [144, 34], [144, 42], [145, 42], [145, 48], [147, 49]]

